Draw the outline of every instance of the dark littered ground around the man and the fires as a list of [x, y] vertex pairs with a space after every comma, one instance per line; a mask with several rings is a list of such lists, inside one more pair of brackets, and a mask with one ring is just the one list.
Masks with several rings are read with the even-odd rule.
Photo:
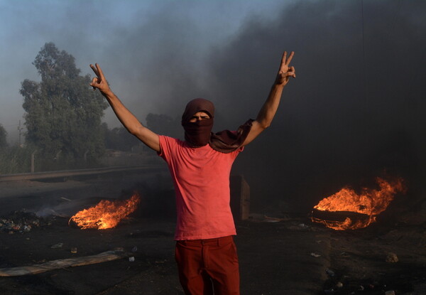
[[[159, 178], [162, 176], [155, 176]], [[0, 277], [0, 294], [183, 294], [173, 258], [174, 219], [139, 212], [109, 230], [68, 225], [80, 208], [128, 192], [131, 178], [40, 183], [0, 183], [0, 216], [13, 210], [50, 215], [50, 225], [29, 232], [0, 232], [0, 268], [84, 257], [122, 247], [128, 258], [21, 277]], [[112, 189], [114, 188], [114, 189]], [[146, 188], [155, 191], [155, 188]], [[165, 191], [170, 191], [169, 188]], [[164, 205], [163, 199], [158, 199]], [[146, 202], [145, 205], [149, 205]], [[58, 215], [62, 215], [60, 217]], [[237, 222], [241, 294], [426, 294], [426, 227], [378, 222], [337, 232], [308, 214], [253, 214]], [[271, 222], [273, 221], [273, 222]], [[62, 243], [62, 247], [52, 247]], [[72, 247], [77, 253], [72, 253]], [[398, 262], [386, 262], [393, 252]]]

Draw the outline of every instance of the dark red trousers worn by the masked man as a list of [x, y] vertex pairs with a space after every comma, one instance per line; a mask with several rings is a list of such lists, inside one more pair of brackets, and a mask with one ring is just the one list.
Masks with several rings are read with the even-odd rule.
[[239, 295], [239, 265], [232, 236], [177, 241], [175, 259], [187, 295]]

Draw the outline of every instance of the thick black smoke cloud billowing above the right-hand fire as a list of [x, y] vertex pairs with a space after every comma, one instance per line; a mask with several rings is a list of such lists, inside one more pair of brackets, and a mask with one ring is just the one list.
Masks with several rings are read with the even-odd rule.
[[252, 18], [213, 50], [211, 94], [234, 126], [256, 116], [282, 51], [295, 50], [297, 78], [285, 88], [272, 127], [236, 165], [254, 204], [281, 200], [307, 210], [383, 171], [420, 185], [425, 11], [425, 1], [298, 1], [276, 19]]

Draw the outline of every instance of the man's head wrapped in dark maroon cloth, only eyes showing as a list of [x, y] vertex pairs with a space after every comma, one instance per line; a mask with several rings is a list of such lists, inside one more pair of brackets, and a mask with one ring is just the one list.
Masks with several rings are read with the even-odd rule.
[[182, 114], [182, 127], [185, 141], [190, 146], [199, 147], [209, 143], [213, 128], [214, 104], [203, 98], [188, 102]]

